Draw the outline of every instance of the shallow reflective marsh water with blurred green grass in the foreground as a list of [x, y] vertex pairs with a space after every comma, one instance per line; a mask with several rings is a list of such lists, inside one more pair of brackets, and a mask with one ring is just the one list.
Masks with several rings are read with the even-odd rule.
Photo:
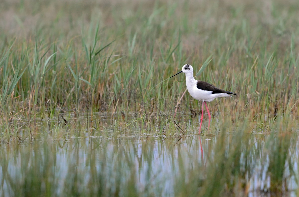
[[2, 196], [296, 196], [298, 136], [48, 137], [1, 144], [0, 165]]

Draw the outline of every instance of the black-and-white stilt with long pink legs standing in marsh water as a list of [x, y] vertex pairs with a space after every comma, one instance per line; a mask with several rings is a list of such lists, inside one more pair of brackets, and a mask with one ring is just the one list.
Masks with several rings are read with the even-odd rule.
[[[202, 128], [202, 120], [203, 120], [203, 115], [204, 115], [204, 104], [206, 106], [206, 109], [208, 111], [209, 115], [209, 125], [208, 125], [208, 130], [210, 128], [210, 122], [211, 122], [211, 115], [208, 109], [208, 105], [206, 102], [211, 102], [215, 98], [218, 97], [227, 97], [230, 96], [230, 94], [237, 95], [236, 93], [228, 92], [225, 90], [221, 90], [212, 84], [209, 84], [205, 81], [199, 81], [194, 79], [193, 77], [193, 68], [189, 64], [185, 64], [180, 72], [177, 74], [173, 75], [172, 77], [180, 74], [181, 72], [186, 74], [186, 85], [189, 94], [195, 98], [196, 100], [202, 101], [202, 116], [200, 118], [200, 125], [199, 125], [199, 134]], [[170, 78], [172, 78], [170, 77]]]

